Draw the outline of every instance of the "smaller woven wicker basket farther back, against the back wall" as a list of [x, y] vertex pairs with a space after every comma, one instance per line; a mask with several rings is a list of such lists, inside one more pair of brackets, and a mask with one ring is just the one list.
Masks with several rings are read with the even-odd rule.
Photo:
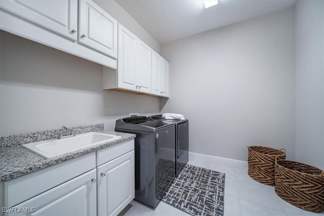
[[249, 176], [255, 181], [274, 186], [274, 161], [277, 156], [286, 158], [286, 149], [272, 149], [263, 146], [249, 146]]

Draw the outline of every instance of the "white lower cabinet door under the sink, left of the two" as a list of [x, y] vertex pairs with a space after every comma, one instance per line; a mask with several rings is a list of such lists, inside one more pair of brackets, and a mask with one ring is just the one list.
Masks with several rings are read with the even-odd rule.
[[96, 215], [96, 190], [96, 169], [93, 169], [14, 207], [34, 208], [31, 215]]

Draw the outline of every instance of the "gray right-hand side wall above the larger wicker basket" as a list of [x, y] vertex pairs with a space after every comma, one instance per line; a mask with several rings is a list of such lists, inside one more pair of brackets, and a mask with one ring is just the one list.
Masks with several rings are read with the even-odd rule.
[[322, 0], [295, 6], [296, 160], [324, 169]]

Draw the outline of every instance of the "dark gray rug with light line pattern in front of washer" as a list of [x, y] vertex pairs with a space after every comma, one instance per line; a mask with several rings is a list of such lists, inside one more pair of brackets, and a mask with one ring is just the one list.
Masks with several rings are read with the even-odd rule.
[[162, 201], [191, 215], [224, 214], [225, 174], [186, 164]]

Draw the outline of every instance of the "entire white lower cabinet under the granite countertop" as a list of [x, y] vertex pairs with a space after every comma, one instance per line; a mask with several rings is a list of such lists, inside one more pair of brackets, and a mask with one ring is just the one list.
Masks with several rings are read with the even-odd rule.
[[134, 161], [131, 139], [0, 182], [0, 216], [117, 215], [135, 197]]

